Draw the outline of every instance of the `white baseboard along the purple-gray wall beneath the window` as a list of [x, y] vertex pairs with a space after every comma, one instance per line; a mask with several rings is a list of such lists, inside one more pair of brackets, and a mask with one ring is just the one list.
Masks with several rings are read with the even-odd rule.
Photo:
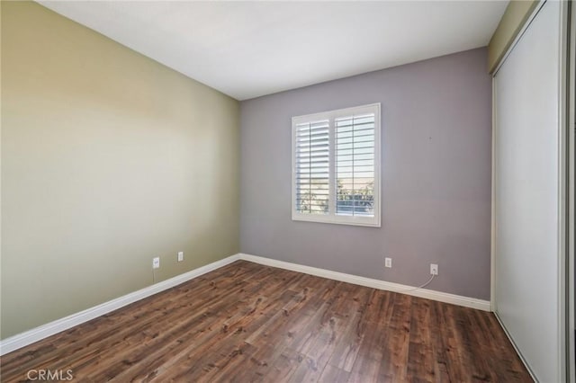
[[373, 289], [383, 289], [386, 291], [400, 292], [413, 297], [428, 298], [439, 302], [451, 303], [453, 305], [476, 308], [483, 311], [491, 311], [491, 304], [488, 300], [463, 297], [460, 295], [449, 294], [446, 292], [435, 291], [432, 289], [413, 289], [412, 286], [402, 285], [387, 281], [374, 280], [372, 278], [360, 277], [357, 275], [347, 274], [344, 272], [332, 272], [317, 267], [305, 266], [297, 263], [277, 261], [275, 259], [265, 258], [257, 255], [238, 254], [238, 258], [244, 261], [265, 264], [266, 266], [278, 267], [293, 272], [303, 272], [305, 274], [315, 275], [317, 277], [328, 278], [335, 281], [343, 281], [359, 286], [365, 286]]

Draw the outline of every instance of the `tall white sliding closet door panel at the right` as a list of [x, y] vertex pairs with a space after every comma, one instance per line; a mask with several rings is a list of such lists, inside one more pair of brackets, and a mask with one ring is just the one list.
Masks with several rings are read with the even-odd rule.
[[495, 76], [495, 308], [536, 379], [563, 379], [561, 6], [546, 2]]

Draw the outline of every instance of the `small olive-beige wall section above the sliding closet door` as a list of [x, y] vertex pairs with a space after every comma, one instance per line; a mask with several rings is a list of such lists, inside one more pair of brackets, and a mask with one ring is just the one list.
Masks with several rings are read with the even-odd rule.
[[537, 0], [512, 0], [509, 2], [506, 12], [502, 15], [488, 44], [488, 70], [490, 73], [496, 69], [538, 3]]

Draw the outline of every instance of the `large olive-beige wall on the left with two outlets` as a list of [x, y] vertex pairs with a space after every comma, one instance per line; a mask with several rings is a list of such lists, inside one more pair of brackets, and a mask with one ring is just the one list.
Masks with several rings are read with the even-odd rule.
[[237, 101], [28, 2], [2, 80], [2, 338], [238, 253]]

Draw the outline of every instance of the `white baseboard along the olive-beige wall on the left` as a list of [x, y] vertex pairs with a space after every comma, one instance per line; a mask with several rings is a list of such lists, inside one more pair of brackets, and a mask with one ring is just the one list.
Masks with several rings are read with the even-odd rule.
[[139, 289], [137, 291], [131, 292], [130, 294], [126, 294], [120, 298], [109, 300], [108, 302], [104, 302], [101, 305], [87, 308], [84, 311], [80, 311], [76, 314], [65, 316], [46, 325], [40, 325], [39, 327], [32, 328], [31, 330], [28, 330], [22, 334], [16, 334], [6, 338], [3, 341], [0, 341], [0, 355], [13, 352], [14, 350], [18, 350], [24, 346], [27, 346], [28, 344], [38, 342], [51, 335], [61, 333], [62, 331], [74, 327], [75, 325], [81, 325], [98, 316], [103, 316], [104, 314], [108, 314], [114, 310], [117, 310], [118, 308], [130, 305], [130, 303], [137, 302], [143, 298], [148, 298], [149, 296], [157, 294], [158, 292], [171, 289], [181, 283], [184, 283], [185, 281], [192, 280], [193, 278], [199, 277], [202, 274], [214, 271], [229, 263], [238, 261], [238, 259], [238, 254], [230, 255], [229, 257], [221, 259], [220, 261], [209, 263], [190, 272], [184, 272], [184, 274], [177, 275], [174, 278], [170, 278], [169, 280], [160, 281], [144, 289]]

